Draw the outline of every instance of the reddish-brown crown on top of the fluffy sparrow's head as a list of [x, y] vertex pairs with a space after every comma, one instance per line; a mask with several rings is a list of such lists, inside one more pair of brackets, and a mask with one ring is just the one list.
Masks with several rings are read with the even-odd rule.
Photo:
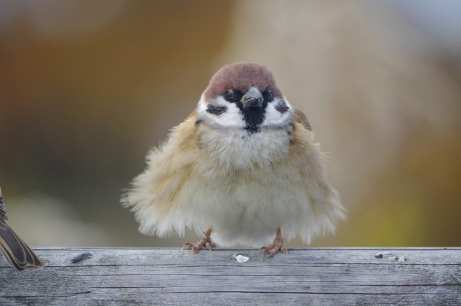
[[256, 63], [234, 63], [226, 65], [214, 73], [210, 84], [205, 89], [205, 100], [210, 100], [217, 94], [224, 94], [228, 89], [247, 92], [251, 86], [264, 91], [272, 89], [272, 93], [281, 96], [275, 84], [274, 75], [263, 65]]

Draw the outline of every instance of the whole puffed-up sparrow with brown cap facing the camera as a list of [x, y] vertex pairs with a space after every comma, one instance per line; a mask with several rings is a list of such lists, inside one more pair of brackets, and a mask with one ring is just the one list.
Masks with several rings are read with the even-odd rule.
[[[161, 238], [193, 229], [184, 247], [256, 247], [287, 254], [284, 240], [335, 231], [344, 207], [307, 117], [261, 64], [215, 73], [195, 110], [147, 154], [122, 197], [139, 231]], [[283, 236], [282, 236], [283, 235]]]

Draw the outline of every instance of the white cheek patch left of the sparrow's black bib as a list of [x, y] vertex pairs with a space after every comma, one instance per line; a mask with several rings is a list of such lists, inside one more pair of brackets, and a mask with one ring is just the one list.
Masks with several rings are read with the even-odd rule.
[[226, 111], [219, 115], [207, 111], [209, 103], [205, 102], [205, 97], [200, 97], [196, 108], [197, 117], [209, 126], [214, 128], [244, 128], [245, 122], [242, 113], [235, 103], [229, 103], [221, 96], [210, 100], [215, 107], [225, 107]]

